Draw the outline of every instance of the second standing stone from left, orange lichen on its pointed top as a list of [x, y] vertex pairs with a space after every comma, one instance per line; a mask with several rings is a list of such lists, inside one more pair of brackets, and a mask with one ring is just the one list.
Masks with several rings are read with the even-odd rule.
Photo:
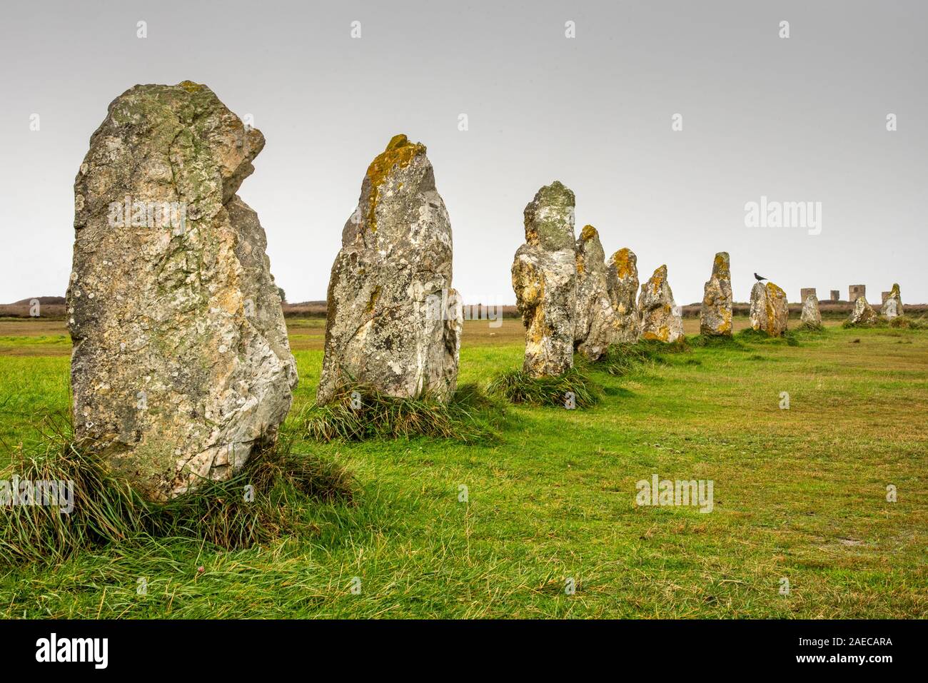
[[397, 397], [455, 393], [462, 306], [425, 151], [395, 135], [367, 168], [329, 277], [321, 404], [355, 384]]

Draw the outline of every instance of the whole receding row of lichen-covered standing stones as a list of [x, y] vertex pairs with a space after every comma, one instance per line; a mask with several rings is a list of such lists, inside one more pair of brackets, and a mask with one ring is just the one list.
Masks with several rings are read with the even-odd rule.
[[[228, 479], [276, 441], [290, 411], [296, 362], [266, 236], [236, 194], [262, 148], [264, 135], [205, 85], [136, 85], [110, 103], [74, 184], [75, 437], [148, 500]], [[152, 229], [152, 207], [167, 204], [185, 207], [182, 229]], [[131, 219], [114, 226], [114, 206]], [[512, 284], [525, 372], [557, 376], [574, 351], [596, 359], [614, 343], [682, 338], [666, 266], [636, 302], [635, 254], [607, 262], [592, 226], [574, 239], [570, 189], [542, 187], [524, 223]], [[426, 148], [396, 135], [367, 168], [342, 230], [317, 403], [352, 385], [441, 401], [455, 393], [463, 314], [451, 264], [451, 224]], [[886, 305], [901, 314], [897, 285], [894, 294]], [[458, 303], [435, 315], [436, 297]], [[722, 252], [705, 285], [703, 334], [731, 334], [731, 304]], [[857, 317], [875, 316], [862, 298], [857, 307]], [[804, 322], [810, 316], [820, 323], [818, 302], [807, 300]], [[754, 287], [751, 320], [771, 335], [786, 329], [780, 288]]]

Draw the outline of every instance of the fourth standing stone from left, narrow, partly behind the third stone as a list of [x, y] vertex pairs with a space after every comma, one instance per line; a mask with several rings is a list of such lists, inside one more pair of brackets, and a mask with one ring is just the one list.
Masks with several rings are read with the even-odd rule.
[[615, 336], [615, 314], [607, 288], [606, 254], [593, 226], [584, 226], [577, 238], [577, 310], [574, 346], [589, 360], [597, 360]]

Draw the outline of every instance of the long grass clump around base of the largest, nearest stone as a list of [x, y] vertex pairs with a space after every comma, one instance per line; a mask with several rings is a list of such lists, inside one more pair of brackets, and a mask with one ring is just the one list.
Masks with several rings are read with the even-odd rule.
[[[284, 439], [252, 455], [231, 479], [203, 482], [166, 503], [148, 502], [111, 476], [100, 457], [74, 444], [70, 428], [56, 428], [41, 453], [26, 454], [20, 447], [11, 455], [0, 480], [17, 481], [15, 476], [20, 483], [73, 484], [71, 496], [45, 500], [63, 506], [39, 505], [40, 500], [22, 504], [19, 498], [13, 504], [5, 492], [0, 508], [2, 565], [61, 562], [79, 550], [136, 546], [152, 538], [190, 538], [225, 549], [260, 546], [300, 531], [303, 506], [351, 501], [353, 490], [353, 478], [341, 465], [295, 455]], [[63, 511], [71, 503], [71, 511]]]

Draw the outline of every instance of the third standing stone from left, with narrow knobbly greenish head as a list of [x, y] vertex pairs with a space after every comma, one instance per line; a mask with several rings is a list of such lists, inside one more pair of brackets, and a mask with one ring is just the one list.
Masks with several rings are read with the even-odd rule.
[[574, 193], [554, 181], [538, 190], [523, 215], [525, 243], [512, 263], [512, 289], [525, 325], [522, 370], [556, 377], [574, 366]]

